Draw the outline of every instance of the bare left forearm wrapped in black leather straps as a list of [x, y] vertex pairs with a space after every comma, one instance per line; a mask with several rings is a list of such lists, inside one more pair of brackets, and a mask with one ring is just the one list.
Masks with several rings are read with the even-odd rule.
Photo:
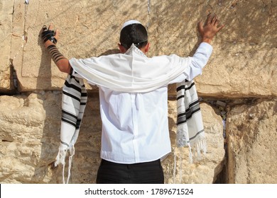
[[65, 72], [67, 74], [70, 74], [70, 62], [66, 57], [63, 56], [62, 53], [58, 50], [58, 48], [53, 44], [53, 42], [50, 42], [50, 40], [45, 42], [45, 47], [50, 53], [50, 56], [53, 59], [53, 62], [58, 66], [58, 69], [60, 71]]

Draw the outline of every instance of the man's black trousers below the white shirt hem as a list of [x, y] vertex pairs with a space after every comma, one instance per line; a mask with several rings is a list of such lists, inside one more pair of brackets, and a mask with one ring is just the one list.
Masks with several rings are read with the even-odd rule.
[[161, 161], [122, 164], [102, 159], [97, 172], [97, 184], [163, 184]]

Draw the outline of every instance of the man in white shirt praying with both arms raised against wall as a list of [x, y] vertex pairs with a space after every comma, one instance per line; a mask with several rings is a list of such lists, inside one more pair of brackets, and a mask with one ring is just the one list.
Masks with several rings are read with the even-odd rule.
[[[102, 161], [97, 183], [164, 183], [161, 159], [171, 151], [168, 85], [192, 81], [202, 73], [212, 54], [210, 43], [222, 28], [217, 16], [210, 14], [205, 25], [198, 23], [201, 43], [192, 57], [147, 57], [150, 44], [146, 28], [131, 20], [121, 28], [121, 53], [85, 59], [64, 57], [55, 45], [58, 30], [54, 32], [53, 25], [43, 28], [42, 39], [53, 61], [74, 78], [74, 83], [68, 83], [73, 95], [82, 95], [82, 78], [99, 88]], [[78, 120], [74, 112], [63, 111], [66, 124]], [[63, 138], [61, 148], [66, 150], [70, 143]]]

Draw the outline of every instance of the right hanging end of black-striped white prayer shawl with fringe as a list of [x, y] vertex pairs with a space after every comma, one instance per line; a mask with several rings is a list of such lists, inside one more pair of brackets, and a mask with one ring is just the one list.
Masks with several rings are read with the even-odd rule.
[[[201, 158], [206, 153], [205, 132], [200, 111], [199, 98], [194, 81], [177, 83], [177, 134], [176, 146], [189, 148], [189, 161], [192, 163], [192, 151]], [[181, 153], [180, 153], [181, 154]], [[174, 182], [176, 155], [174, 155]], [[180, 155], [180, 183], [182, 182], [182, 156]]]

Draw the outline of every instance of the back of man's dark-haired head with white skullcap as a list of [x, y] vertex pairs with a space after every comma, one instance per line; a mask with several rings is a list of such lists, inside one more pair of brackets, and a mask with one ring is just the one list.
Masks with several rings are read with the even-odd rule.
[[136, 47], [141, 49], [148, 43], [147, 30], [139, 21], [127, 21], [121, 29], [119, 41], [126, 50], [128, 50], [133, 43]]

